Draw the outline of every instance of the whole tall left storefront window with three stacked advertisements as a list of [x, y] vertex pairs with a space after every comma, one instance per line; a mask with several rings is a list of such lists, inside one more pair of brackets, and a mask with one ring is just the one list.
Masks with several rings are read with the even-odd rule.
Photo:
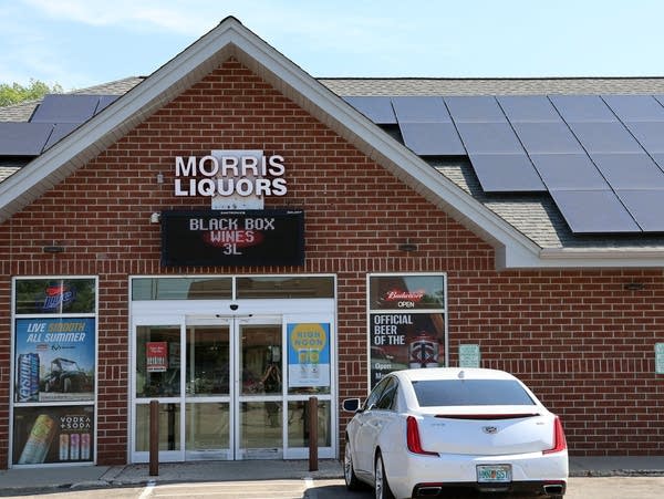
[[96, 279], [17, 278], [13, 312], [12, 462], [94, 461]]

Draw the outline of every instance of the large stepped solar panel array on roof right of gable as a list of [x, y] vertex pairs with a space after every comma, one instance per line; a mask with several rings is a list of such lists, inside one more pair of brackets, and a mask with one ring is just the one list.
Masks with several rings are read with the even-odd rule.
[[486, 193], [548, 191], [579, 233], [663, 232], [664, 95], [346, 97]]

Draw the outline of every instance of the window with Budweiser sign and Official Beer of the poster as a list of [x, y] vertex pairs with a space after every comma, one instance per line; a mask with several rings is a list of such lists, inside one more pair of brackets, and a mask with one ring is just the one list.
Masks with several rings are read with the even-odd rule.
[[444, 274], [369, 277], [371, 388], [392, 371], [447, 365], [445, 301]]

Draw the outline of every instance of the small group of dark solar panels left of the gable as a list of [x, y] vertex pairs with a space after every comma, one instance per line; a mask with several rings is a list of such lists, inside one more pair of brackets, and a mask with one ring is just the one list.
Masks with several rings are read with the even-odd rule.
[[46, 95], [29, 122], [0, 123], [0, 156], [39, 156], [117, 97], [84, 94]]

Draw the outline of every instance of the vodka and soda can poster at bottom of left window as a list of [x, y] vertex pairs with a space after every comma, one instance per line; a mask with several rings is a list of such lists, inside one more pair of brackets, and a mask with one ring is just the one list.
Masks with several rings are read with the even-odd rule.
[[14, 465], [93, 460], [94, 406], [14, 408]]

